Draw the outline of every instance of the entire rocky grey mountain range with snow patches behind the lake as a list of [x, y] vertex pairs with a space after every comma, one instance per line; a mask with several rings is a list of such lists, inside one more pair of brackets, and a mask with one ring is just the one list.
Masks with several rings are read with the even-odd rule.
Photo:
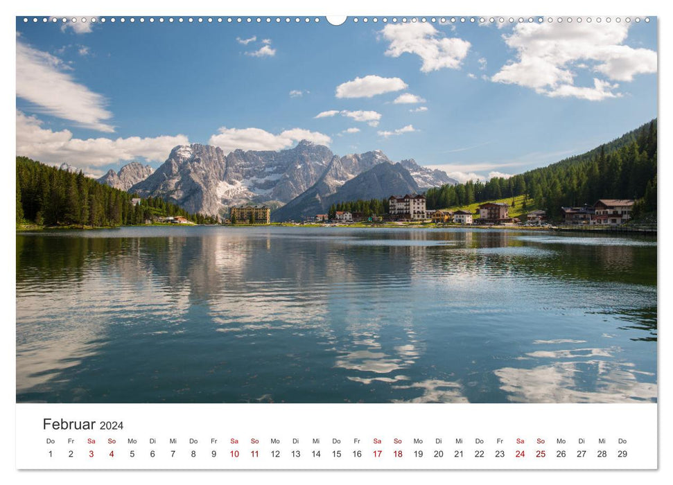
[[[341, 190], [347, 182], [381, 164], [395, 168], [379, 170]], [[396, 186], [408, 187], [405, 190], [386, 186], [389, 181], [397, 183], [402, 179], [405, 184]], [[267, 204], [272, 209], [288, 205], [287, 209], [278, 211], [278, 216], [274, 215], [274, 220], [283, 214], [296, 217], [297, 214], [308, 215], [314, 208], [324, 210], [328, 201], [331, 204], [387, 197], [392, 193], [418, 192], [457, 183], [441, 170], [419, 166], [412, 159], [394, 164], [381, 150], [340, 157], [326, 146], [306, 140], [288, 150], [234, 150], [229, 155], [212, 145], [178, 145], [155, 171], [132, 162], [118, 173], [110, 170], [98, 181], [141, 197], [162, 197], [191, 213], [223, 215], [229, 206], [249, 203]], [[409, 184], [410, 181], [413, 183]], [[377, 184], [378, 190], [367, 189]], [[332, 195], [335, 196], [330, 197]], [[311, 197], [318, 198], [317, 204], [306, 202]], [[335, 197], [349, 198], [336, 200]]]

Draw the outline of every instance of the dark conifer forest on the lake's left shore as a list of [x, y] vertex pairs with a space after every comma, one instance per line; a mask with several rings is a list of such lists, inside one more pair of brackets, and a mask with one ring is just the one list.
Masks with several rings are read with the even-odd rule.
[[100, 184], [78, 173], [17, 157], [17, 224], [114, 227], [144, 224], [155, 216], [182, 215], [197, 224], [216, 224], [175, 204], [148, 197], [134, 206], [137, 195]]

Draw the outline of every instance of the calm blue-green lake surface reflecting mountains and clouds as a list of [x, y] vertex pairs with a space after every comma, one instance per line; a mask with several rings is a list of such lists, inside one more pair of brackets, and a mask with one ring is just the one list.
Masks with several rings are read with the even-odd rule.
[[652, 238], [17, 235], [18, 402], [656, 402], [656, 322]]

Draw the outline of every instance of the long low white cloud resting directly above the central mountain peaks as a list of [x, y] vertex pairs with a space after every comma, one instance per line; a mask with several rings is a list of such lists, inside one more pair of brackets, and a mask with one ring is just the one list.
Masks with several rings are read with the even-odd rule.
[[261, 128], [227, 128], [221, 127], [218, 134], [213, 134], [208, 143], [216, 145], [225, 152], [238, 148], [241, 150], [281, 150], [289, 148], [297, 141], [308, 140], [319, 145], [329, 145], [332, 139], [320, 132], [311, 132], [301, 128], [285, 130], [280, 134], [272, 134]]

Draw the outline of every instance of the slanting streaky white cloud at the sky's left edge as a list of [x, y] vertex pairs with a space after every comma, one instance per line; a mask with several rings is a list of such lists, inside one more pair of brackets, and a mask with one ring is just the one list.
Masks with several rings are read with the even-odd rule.
[[35, 103], [40, 111], [98, 130], [114, 132], [104, 121], [112, 118], [104, 96], [78, 84], [63, 62], [17, 39], [17, 96]]

